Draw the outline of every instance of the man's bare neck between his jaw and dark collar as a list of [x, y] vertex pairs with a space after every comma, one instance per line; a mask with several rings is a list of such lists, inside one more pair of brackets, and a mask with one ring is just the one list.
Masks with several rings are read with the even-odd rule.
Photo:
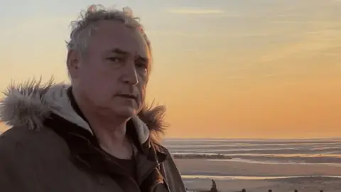
[[98, 112], [97, 107], [89, 105], [91, 102], [81, 97], [74, 88], [72, 88], [72, 95], [101, 146], [110, 149], [114, 145], [126, 142], [126, 122], [129, 119], [114, 117], [114, 115], [108, 118], [107, 115], [101, 115], [102, 112]]

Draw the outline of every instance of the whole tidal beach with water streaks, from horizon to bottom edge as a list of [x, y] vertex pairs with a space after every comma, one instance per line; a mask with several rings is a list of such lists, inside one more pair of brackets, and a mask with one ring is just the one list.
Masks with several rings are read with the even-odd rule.
[[341, 139], [167, 139], [188, 190], [341, 192]]

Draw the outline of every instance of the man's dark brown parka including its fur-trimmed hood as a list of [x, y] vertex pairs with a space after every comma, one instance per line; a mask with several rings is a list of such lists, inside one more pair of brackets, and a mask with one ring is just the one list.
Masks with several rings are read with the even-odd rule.
[[163, 107], [144, 108], [127, 123], [137, 149], [132, 178], [99, 147], [70, 89], [35, 81], [9, 87], [0, 103], [1, 120], [11, 127], [0, 136], [0, 191], [185, 191], [171, 154], [156, 139]]

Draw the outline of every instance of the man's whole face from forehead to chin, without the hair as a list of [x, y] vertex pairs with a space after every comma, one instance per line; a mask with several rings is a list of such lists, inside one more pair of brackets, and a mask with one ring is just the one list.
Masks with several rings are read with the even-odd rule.
[[131, 117], [139, 112], [150, 60], [139, 31], [119, 21], [100, 21], [87, 48], [70, 72], [81, 97], [109, 114]]

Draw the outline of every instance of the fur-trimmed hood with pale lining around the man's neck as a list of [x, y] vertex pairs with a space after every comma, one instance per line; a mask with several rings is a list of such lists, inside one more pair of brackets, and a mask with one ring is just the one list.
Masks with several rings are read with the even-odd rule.
[[[89, 124], [73, 110], [65, 83], [54, 83], [52, 80], [43, 85], [40, 80], [31, 80], [18, 85], [10, 85], [0, 102], [0, 121], [9, 127], [27, 127], [39, 129], [50, 113], [87, 129], [92, 133]], [[144, 107], [139, 114], [132, 117], [141, 143], [149, 136], [156, 137], [163, 133], [163, 117], [166, 107]]]

